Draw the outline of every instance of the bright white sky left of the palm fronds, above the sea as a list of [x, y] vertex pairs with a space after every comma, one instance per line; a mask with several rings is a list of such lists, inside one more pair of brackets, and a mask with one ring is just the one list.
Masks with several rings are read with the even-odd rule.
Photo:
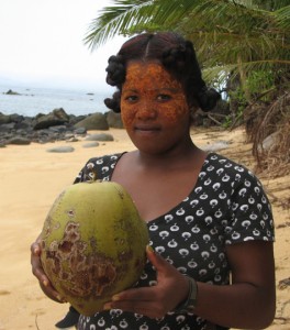
[[108, 58], [122, 36], [93, 52], [83, 37], [108, 0], [0, 0], [0, 84], [107, 91]]

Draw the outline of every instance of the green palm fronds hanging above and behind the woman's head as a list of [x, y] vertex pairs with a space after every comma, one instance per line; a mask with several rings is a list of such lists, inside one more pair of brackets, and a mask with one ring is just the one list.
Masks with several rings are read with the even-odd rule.
[[230, 94], [238, 100], [236, 113], [245, 107], [241, 98], [249, 102], [249, 98], [257, 99], [268, 89], [279, 90], [289, 81], [289, 0], [112, 2], [89, 26], [85, 43], [91, 50], [116, 34], [179, 32], [194, 43], [208, 82], [224, 86], [228, 77], [239, 77], [241, 90]]

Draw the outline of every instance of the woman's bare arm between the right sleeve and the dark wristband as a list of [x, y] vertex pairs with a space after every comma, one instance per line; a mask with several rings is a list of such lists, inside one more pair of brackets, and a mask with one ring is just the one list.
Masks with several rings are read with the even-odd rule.
[[275, 317], [272, 243], [248, 241], [227, 245], [232, 285], [199, 283], [197, 315], [221, 326], [263, 329]]

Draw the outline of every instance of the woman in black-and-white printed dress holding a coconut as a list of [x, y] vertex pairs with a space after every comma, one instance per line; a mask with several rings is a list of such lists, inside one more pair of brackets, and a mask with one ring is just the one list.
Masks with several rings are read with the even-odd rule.
[[[97, 173], [123, 185], [147, 221], [150, 246], [137, 287], [80, 316], [78, 329], [267, 327], [275, 315], [270, 206], [248, 169], [191, 140], [194, 111], [219, 99], [192, 44], [175, 33], [141, 34], [110, 57], [107, 72], [118, 91], [105, 103], [121, 111], [136, 150], [91, 158], [76, 183]], [[40, 253], [35, 242], [33, 273], [57, 299]]]

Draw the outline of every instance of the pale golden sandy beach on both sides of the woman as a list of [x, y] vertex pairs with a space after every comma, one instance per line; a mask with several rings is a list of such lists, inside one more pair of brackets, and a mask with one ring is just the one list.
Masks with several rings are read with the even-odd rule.
[[[56, 196], [70, 185], [92, 156], [133, 150], [124, 130], [109, 131], [113, 142], [98, 147], [74, 143], [9, 145], [0, 148], [0, 330], [51, 330], [68, 305], [49, 300], [31, 272], [30, 245], [42, 230]], [[192, 139], [200, 147], [227, 143], [219, 153], [250, 169], [255, 163], [244, 130], [196, 130]], [[72, 153], [48, 153], [55, 145], [71, 145]], [[290, 176], [260, 177], [272, 201], [276, 222], [277, 314], [269, 329], [290, 329]], [[289, 280], [285, 280], [289, 278]], [[283, 283], [281, 280], [285, 280]], [[133, 329], [132, 329], [133, 330]]]

